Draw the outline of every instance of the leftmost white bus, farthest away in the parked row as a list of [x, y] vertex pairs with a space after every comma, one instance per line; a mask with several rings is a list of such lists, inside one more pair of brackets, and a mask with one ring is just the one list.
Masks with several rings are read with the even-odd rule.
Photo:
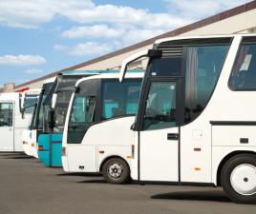
[[22, 131], [32, 118], [32, 107], [25, 112], [23, 107], [35, 102], [37, 93], [27, 90], [0, 94], [0, 151], [23, 151]]

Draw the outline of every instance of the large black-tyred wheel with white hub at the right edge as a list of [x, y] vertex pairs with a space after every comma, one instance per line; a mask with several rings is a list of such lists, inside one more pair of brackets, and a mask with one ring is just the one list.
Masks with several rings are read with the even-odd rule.
[[240, 154], [229, 159], [222, 169], [221, 183], [235, 203], [256, 203], [256, 156]]

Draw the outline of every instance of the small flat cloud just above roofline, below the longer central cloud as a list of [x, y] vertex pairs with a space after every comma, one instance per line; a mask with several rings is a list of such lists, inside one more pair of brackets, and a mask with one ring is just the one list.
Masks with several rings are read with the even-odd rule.
[[112, 47], [107, 44], [96, 42], [81, 43], [74, 47], [55, 45], [54, 49], [62, 50], [70, 55], [75, 56], [93, 56], [98, 54], [106, 54], [113, 50]]

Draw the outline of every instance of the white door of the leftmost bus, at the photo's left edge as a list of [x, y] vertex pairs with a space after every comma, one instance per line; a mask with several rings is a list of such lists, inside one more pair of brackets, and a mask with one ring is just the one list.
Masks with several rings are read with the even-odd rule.
[[14, 151], [13, 109], [11, 102], [0, 103], [0, 151]]

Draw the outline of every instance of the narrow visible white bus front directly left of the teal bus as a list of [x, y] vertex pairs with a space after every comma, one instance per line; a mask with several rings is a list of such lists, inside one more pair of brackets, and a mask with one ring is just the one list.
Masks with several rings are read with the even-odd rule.
[[[40, 94], [34, 104], [33, 112], [32, 112], [32, 120], [30, 125], [23, 131], [23, 149], [24, 152], [33, 156], [34, 158], [38, 158], [37, 153], [37, 140], [38, 134], [43, 131], [43, 127], [46, 126], [44, 118], [44, 112], [42, 103], [44, 102], [46, 96], [50, 93], [51, 88], [53, 87], [53, 82], [55, 77], [48, 79], [44, 82]], [[28, 106], [25, 107], [27, 110]]]

